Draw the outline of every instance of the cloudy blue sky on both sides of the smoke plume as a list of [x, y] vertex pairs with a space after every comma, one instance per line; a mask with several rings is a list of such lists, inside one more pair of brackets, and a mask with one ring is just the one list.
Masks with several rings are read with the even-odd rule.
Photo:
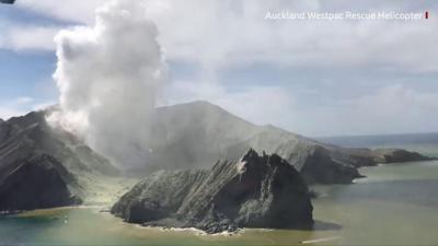
[[[103, 2], [0, 5], [1, 118], [58, 101], [54, 36], [93, 26]], [[207, 99], [312, 137], [438, 131], [435, 1], [146, 2], [171, 74], [159, 105]], [[273, 22], [268, 10], [427, 10], [430, 20]]]

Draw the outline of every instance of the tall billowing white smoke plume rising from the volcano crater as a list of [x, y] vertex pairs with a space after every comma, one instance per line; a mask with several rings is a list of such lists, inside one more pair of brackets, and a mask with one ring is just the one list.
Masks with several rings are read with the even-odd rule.
[[96, 10], [93, 27], [57, 34], [60, 112], [49, 117], [119, 165], [146, 162], [148, 126], [166, 80], [158, 30], [142, 1]]

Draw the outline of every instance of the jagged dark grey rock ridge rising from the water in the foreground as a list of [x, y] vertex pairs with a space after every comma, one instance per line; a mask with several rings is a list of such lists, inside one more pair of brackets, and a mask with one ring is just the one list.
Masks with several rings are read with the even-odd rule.
[[207, 233], [237, 227], [310, 227], [308, 187], [300, 174], [276, 154], [250, 150], [239, 162], [211, 169], [151, 174], [112, 209], [127, 222], [197, 227]]

